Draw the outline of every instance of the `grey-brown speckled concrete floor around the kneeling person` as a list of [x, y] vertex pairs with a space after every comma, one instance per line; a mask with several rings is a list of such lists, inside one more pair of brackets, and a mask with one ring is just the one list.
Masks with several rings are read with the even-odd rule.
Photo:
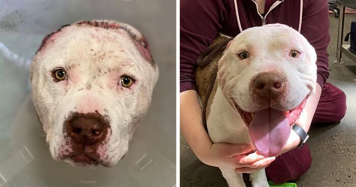
[[[345, 33], [355, 14], [345, 17]], [[338, 124], [311, 127], [308, 141], [313, 163], [309, 171], [293, 181], [298, 186], [356, 186], [356, 63], [344, 56], [344, 65], [335, 65], [338, 18], [330, 14], [329, 82], [341, 88], [347, 95], [347, 113]], [[201, 163], [190, 149], [184, 137], [181, 144], [181, 186], [227, 186], [216, 167]]]

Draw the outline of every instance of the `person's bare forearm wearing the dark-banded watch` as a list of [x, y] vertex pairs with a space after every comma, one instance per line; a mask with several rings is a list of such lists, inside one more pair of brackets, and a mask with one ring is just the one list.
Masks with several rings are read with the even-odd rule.
[[[316, 107], [318, 106], [319, 99], [321, 95], [321, 86], [317, 83], [315, 88], [315, 93], [309, 97], [303, 112], [299, 118], [295, 121], [305, 132], [309, 131], [311, 121], [313, 119]], [[282, 153], [287, 152], [299, 145], [301, 138], [293, 130], [290, 132], [290, 136], [287, 140], [286, 146], [283, 148]]]

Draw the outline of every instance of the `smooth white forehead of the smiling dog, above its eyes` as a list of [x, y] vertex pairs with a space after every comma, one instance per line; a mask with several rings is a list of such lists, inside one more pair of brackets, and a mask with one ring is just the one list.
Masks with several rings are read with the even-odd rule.
[[303, 50], [308, 41], [296, 30], [286, 25], [265, 25], [244, 30], [231, 43], [238, 48], [268, 48], [283, 50], [293, 48]]

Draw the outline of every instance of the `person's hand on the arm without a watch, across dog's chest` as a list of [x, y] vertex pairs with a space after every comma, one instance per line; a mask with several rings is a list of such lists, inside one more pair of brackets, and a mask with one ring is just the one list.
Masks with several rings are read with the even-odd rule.
[[210, 150], [200, 155], [203, 163], [222, 168], [236, 168], [240, 166], [239, 160], [246, 157], [252, 149], [249, 144], [213, 143]]

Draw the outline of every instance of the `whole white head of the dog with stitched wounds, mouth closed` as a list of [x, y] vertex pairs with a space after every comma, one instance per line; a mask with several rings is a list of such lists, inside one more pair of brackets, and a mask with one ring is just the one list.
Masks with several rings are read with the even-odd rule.
[[48, 35], [31, 80], [52, 157], [80, 166], [116, 164], [157, 78], [149, 45], [130, 25], [82, 21]]

